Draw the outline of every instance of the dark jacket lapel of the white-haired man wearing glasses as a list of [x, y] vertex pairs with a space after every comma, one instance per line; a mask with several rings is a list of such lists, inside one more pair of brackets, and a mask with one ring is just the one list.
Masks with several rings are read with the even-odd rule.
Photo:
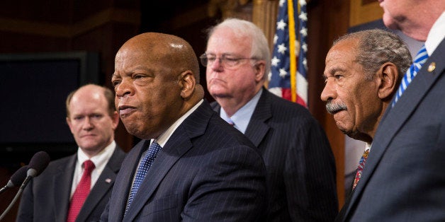
[[272, 111], [269, 91], [263, 88], [263, 93], [261, 93], [257, 107], [255, 107], [245, 132], [245, 135], [255, 146], [259, 147], [259, 144], [269, 131], [270, 127], [266, 124], [266, 120], [271, 117]]

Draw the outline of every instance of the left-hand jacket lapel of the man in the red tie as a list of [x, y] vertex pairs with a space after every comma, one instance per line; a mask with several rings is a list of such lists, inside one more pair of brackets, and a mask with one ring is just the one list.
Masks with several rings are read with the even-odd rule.
[[77, 154], [71, 156], [66, 165], [59, 165], [57, 173], [52, 177], [54, 190], [48, 192], [54, 195], [55, 204], [55, 221], [66, 221], [69, 197], [71, 196], [72, 176], [74, 174], [74, 164], [77, 160]]

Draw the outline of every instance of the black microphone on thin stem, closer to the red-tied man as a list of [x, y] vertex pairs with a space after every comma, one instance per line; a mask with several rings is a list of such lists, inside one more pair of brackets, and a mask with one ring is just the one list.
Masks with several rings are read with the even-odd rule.
[[0, 221], [6, 216], [6, 214], [11, 210], [12, 206], [16, 203], [18, 197], [20, 197], [20, 194], [23, 192], [23, 189], [25, 189], [26, 185], [28, 185], [28, 182], [33, 178], [40, 175], [40, 173], [45, 170], [47, 165], [50, 163], [50, 155], [46, 153], [45, 151], [39, 151], [34, 154], [33, 158], [29, 161], [27, 170], [26, 170], [26, 178], [23, 181], [20, 189], [18, 189], [18, 192], [14, 199], [11, 201], [11, 204], [9, 204], [8, 208], [1, 214]]

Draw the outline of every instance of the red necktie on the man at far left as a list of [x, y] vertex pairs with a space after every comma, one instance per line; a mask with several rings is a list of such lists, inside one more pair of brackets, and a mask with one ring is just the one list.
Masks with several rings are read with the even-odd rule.
[[94, 163], [91, 160], [84, 162], [84, 174], [82, 175], [79, 185], [76, 187], [76, 191], [69, 204], [69, 211], [67, 221], [76, 221], [82, 205], [84, 205], [86, 197], [88, 197], [89, 190], [91, 189], [91, 171], [95, 168]]

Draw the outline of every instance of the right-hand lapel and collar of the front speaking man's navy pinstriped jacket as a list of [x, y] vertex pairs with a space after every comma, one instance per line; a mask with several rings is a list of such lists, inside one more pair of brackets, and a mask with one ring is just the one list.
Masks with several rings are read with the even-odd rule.
[[167, 141], [167, 144], [159, 151], [150, 170], [145, 175], [145, 179], [139, 187], [139, 190], [144, 192], [137, 192], [124, 218], [125, 221], [133, 221], [135, 219], [171, 167], [184, 153], [192, 148], [191, 138], [200, 136], [205, 132], [210, 116], [213, 113], [208, 103], [204, 101], [195, 112], [179, 125]]

